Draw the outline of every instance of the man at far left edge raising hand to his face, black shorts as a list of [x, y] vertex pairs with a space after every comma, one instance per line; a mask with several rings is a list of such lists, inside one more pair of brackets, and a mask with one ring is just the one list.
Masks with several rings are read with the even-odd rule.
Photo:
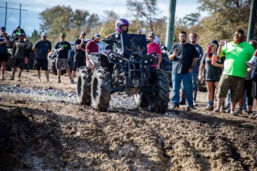
[[5, 27], [1, 27], [1, 35], [0, 35], [0, 62], [2, 63], [1, 68], [1, 80], [4, 80], [4, 71], [6, 62], [8, 61], [8, 44], [10, 43], [9, 37], [5, 34]]

